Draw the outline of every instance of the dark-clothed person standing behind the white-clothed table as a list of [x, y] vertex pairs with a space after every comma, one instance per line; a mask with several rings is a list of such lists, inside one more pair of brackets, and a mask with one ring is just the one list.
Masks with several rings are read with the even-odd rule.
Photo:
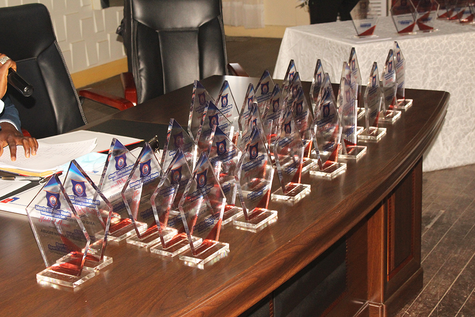
[[350, 11], [359, 0], [309, 0], [310, 24], [351, 20]]

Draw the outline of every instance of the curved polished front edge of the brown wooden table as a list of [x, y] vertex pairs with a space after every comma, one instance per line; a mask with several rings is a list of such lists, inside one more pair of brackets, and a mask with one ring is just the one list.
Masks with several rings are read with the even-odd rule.
[[[339, 219], [343, 223], [334, 223], [333, 227], [341, 228], [341, 225], [343, 225], [344, 230], [340, 230], [337, 235], [334, 235], [332, 237], [332, 239], [327, 240], [324, 244], [322, 244], [323, 237], [318, 234], [320, 231], [320, 221], [312, 223], [310, 226], [305, 228], [300, 234], [298, 234], [298, 236], [295, 237], [292, 241], [289, 241], [289, 245], [285, 245], [276, 249], [269, 257], [262, 259], [252, 267], [249, 267], [247, 270], [243, 271], [242, 274], [230, 280], [227, 285], [215, 289], [206, 298], [202, 298], [199, 301], [196, 301], [191, 310], [189, 310], [188, 312], [183, 312], [184, 315], [180, 316], [196, 316], [196, 314], [207, 315], [212, 313], [211, 311], [216, 312], [224, 310], [226, 311], [226, 316], [238, 316], [239, 314], [245, 312], [246, 309], [256, 304], [261, 298], [267, 296], [278, 286], [282, 285], [288, 278], [300, 271], [311, 261], [316, 259], [333, 243], [338, 241], [347, 232], [349, 232], [351, 228], [353, 228], [366, 215], [368, 215], [368, 213], [370, 213], [377, 205], [379, 205], [381, 200], [394, 189], [394, 187], [399, 183], [399, 181], [411, 170], [411, 168], [415, 166], [419, 159], [422, 158], [424, 152], [427, 150], [428, 146], [435, 137], [436, 132], [444, 121], [445, 114], [447, 112], [449, 97], [450, 94], [445, 92], [442, 100], [440, 101], [437, 107], [440, 110], [434, 111], [433, 115], [431, 116], [431, 120], [427, 120], [423, 128], [413, 138], [413, 141], [405, 147], [405, 149], [408, 149], [407, 153], [400, 153], [400, 155], [394, 158], [394, 161], [399, 162], [399, 164], [394, 164], [395, 168], [390, 173], [387, 173], [383, 183], [387, 184], [388, 186], [374, 186], [374, 183], [380, 183], [380, 181], [370, 180], [363, 187], [376, 188], [376, 190], [373, 192], [368, 192], [364, 196], [357, 196], [359, 198], [358, 209], [348, 211], [350, 214], [341, 213]], [[427, 133], [425, 131], [430, 132]], [[381, 187], [384, 187], [383, 191], [380, 191]], [[376, 195], [377, 198], [374, 198], [374, 195]], [[368, 199], [370, 197], [371, 199]], [[370, 201], [371, 204], [366, 204], [368, 201]], [[340, 202], [340, 204], [338, 204], [332, 210], [332, 212], [336, 212], [344, 204], [344, 201]], [[350, 221], [348, 221], [349, 215], [352, 216]], [[308, 248], [308, 245], [312, 245], [312, 248]], [[305, 254], [305, 249], [307, 249], [307, 255], [305, 258], [302, 259], [302, 255]], [[315, 252], [316, 249], [320, 251]], [[286, 261], [295, 262], [295, 254], [300, 255], [298, 258], [300, 261], [298, 263], [293, 263], [293, 265], [289, 265], [289, 263], [287, 263]], [[285, 257], [283, 257], [283, 255], [285, 255]], [[269, 263], [273, 264], [274, 269], [269, 269]], [[280, 276], [279, 279], [273, 279], [272, 277], [275, 278], [275, 272], [280, 271], [278, 268], [284, 266], [285, 269], [288, 268], [288, 273]], [[265, 268], [267, 270], [265, 270]], [[243, 283], [241, 275], [244, 275], [246, 280], [249, 282]], [[269, 276], [269, 278], [265, 278], [265, 276]], [[259, 280], [260, 282], [259, 285], [256, 287], [256, 285], [253, 284], [253, 281], [257, 280]], [[267, 283], [267, 281], [269, 280], [273, 280], [273, 282]], [[265, 282], [263, 283], [263, 281]], [[243, 292], [244, 289], [246, 290], [245, 292]], [[230, 303], [218, 299], [232, 298], [238, 292], [242, 292], [244, 296], [239, 297], [239, 299], [236, 299], [239, 301], [238, 305], [236, 305], [236, 310], [230, 311]], [[210, 305], [210, 303], [213, 303], [213, 305]], [[246, 304], [244, 305], [242, 303]]]

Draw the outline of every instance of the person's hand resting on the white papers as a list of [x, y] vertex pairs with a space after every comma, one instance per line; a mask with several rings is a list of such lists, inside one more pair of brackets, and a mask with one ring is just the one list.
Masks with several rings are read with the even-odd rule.
[[15, 126], [9, 122], [0, 122], [0, 156], [3, 154], [3, 147], [10, 148], [10, 159], [16, 160], [16, 146], [21, 145], [25, 150], [25, 158], [36, 155], [38, 141], [32, 137], [25, 137]]

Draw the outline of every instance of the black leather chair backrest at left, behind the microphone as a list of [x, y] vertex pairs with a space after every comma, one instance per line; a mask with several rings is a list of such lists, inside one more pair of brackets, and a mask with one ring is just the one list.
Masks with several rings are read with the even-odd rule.
[[0, 8], [0, 30], [0, 52], [16, 61], [17, 72], [34, 87], [30, 97], [7, 89], [22, 128], [43, 138], [87, 123], [46, 6]]

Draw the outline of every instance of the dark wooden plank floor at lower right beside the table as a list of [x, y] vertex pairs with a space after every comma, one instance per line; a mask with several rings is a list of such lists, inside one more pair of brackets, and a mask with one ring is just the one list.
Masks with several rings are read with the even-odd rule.
[[475, 165], [423, 174], [424, 286], [397, 317], [475, 316]]

